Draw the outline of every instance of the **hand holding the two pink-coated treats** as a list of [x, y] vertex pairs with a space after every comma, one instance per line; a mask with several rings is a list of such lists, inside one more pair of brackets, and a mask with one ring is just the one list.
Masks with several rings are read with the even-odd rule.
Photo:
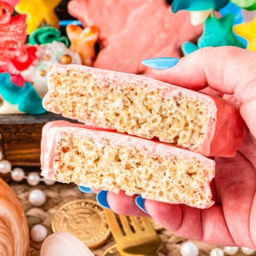
[[[235, 157], [215, 157], [216, 176], [211, 183], [215, 205], [201, 210], [146, 199], [146, 211], [179, 236], [256, 249], [256, 53], [236, 47], [208, 47], [154, 74], [164, 82], [193, 90], [214, 90], [214, 94], [236, 100], [248, 129]], [[147, 215], [135, 204], [135, 197], [108, 192], [106, 199], [118, 214]]]

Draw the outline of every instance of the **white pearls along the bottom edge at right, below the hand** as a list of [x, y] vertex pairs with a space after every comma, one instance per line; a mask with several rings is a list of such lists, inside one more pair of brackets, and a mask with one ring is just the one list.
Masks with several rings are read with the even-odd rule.
[[[224, 253], [227, 255], [235, 255], [239, 250], [239, 247], [224, 247], [223, 250], [221, 248], [213, 248], [210, 252], [210, 256], [224, 256]], [[251, 255], [254, 253], [254, 250], [241, 247], [241, 251], [245, 255]], [[183, 243], [180, 247], [180, 253], [182, 256], [198, 256], [199, 249], [197, 245], [193, 242]]]

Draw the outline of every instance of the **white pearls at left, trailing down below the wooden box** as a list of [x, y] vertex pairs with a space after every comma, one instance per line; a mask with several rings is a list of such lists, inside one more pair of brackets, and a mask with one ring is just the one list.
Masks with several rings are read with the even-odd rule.
[[[37, 186], [41, 181], [46, 185], [53, 185], [55, 181], [40, 178], [37, 172], [30, 172], [27, 176], [25, 171], [20, 167], [12, 169], [12, 164], [8, 160], [3, 160], [3, 153], [0, 151], [0, 173], [11, 173], [14, 181], [22, 181], [26, 179], [30, 186]], [[46, 195], [41, 189], [33, 189], [29, 193], [29, 202], [34, 206], [41, 206], [46, 202]], [[47, 236], [47, 229], [41, 224], [36, 224], [30, 229], [30, 237], [35, 242], [42, 242]]]

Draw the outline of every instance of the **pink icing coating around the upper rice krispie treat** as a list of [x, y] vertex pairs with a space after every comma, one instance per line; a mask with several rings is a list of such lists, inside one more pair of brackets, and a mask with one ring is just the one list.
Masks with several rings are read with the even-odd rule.
[[[243, 139], [244, 122], [239, 115], [239, 110], [234, 103], [228, 102], [213, 95], [192, 91], [183, 87], [167, 84], [157, 81], [150, 77], [126, 74], [116, 71], [90, 68], [79, 65], [54, 65], [51, 69], [50, 76], [53, 74], [65, 75], [68, 70], [78, 69], [81, 73], [91, 74], [93, 78], [103, 84], [103, 86], [119, 86], [122, 83], [133, 82], [137, 86], [147, 86], [156, 90], [164, 99], [173, 98], [175, 95], [183, 95], [204, 101], [209, 107], [209, 126], [207, 127], [206, 137], [198, 153], [205, 156], [222, 156], [230, 157], [236, 154]], [[50, 101], [51, 83], [49, 83], [49, 93], [43, 99], [45, 102]], [[54, 107], [46, 107], [47, 110], [57, 114], [59, 113]], [[75, 119], [74, 116], [68, 116]], [[78, 121], [89, 124], [86, 115], [78, 117]], [[93, 124], [94, 125], [94, 124]], [[115, 127], [111, 127], [115, 129]]]

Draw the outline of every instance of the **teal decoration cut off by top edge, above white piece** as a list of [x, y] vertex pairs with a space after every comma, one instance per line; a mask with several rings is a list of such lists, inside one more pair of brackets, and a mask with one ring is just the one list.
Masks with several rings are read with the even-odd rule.
[[204, 11], [210, 10], [217, 11], [227, 5], [229, 0], [173, 0], [172, 11], [178, 12], [179, 10], [186, 11]]

